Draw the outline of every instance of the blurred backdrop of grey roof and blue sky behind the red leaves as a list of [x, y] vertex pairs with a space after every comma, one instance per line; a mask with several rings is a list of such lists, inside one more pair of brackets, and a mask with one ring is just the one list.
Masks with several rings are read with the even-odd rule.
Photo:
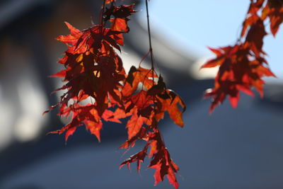
[[[132, 4], [133, 1], [124, 1]], [[122, 59], [126, 69], [148, 51], [144, 1], [129, 21]], [[50, 95], [62, 86], [49, 78], [66, 50], [54, 40], [69, 33], [64, 21], [88, 28], [98, 21], [98, 0], [0, 1], [0, 188], [173, 188], [167, 178], [154, 186], [146, 161], [137, 173], [124, 159], [143, 147], [138, 143], [122, 156], [127, 137], [122, 125], [105, 122], [101, 143], [84, 127], [64, 143], [58, 130], [64, 121], [57, 110], [42, 112], [59, 101]], [[187, 103], [185, 127], [161, 121], [171, 157], [180, 166], [180, 188], [283, 188], [282, 28], [265, 38], [264, 50], [277, 79], [266, 79], [265, 97], [241, 95], [237, 109], [229, 103], [208, 114], [203, 93], [214, 85], [216, 69], [200, 66], [209, 47], [233, 45], [241, 32], [249, 1], [149, 1], [153, 48], [158, 70]], [[143, 65], [146, 67], [146, 60]]]

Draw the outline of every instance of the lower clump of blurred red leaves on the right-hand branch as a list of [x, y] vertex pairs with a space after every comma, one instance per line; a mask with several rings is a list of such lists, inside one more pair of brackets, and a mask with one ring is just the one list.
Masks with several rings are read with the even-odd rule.
[[261, 78], [275, 75], [270, 69], [264, 67], [264, 64], [267, 64], [264, 58], [255, 56], [253, 60], [250, 60], [252, 57], [250, 51], [253, 51], [254, 47], [256, 45], [250, 47], [246, 44], [221, 47], [218, 50], [213, 50], [216, 58], [209, 60], [202, 66], [202, 68], [219, 66], [214, 88], [209, 89], [205, 94], [206, 97], [213, 98], [209, 109], [210, 113], [216, 105], [223, 103], [227, 95], [229, 95], [233, 108], [236, 108], [240, 98], [239, 91], [253, 96], [253, 92], [250, 90], [252, 86], [261, 95], [263, 94], [264, 81]]

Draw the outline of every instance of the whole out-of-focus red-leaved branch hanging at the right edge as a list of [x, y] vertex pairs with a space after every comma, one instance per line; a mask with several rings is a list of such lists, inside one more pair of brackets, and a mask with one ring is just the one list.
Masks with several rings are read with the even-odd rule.
[[223, 103], [226, 96], [233, 108], [236, 108], [240, 91], [254, 96], [255, 88], [263, 96], [263, 77], [275, 76], [270, 71], [265, 52], [262, 50], [263, 38], [267, 35], [264, 22], [269, 18], [270, 30], [276, 35], [283, 21], [282, 0], [251, 0], [241, 36], [236, 45], [212, 49], [216, 58], [210, 59], [202, 68], [219, 67], [214, 88], [208, 89], [205, 97], [212, 98], [209, 112]]

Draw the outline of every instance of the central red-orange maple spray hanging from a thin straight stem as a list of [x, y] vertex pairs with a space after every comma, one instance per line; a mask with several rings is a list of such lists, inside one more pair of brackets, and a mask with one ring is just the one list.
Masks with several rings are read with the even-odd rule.
[[[132, 86], [132, 84], [135, 84], [132, 92], [136, 91], [137, 84], [141, 80], [147, 91], [142, 89], [136, 95], [129, 97], [128, 101], [131, 103], [129, 103], [128, 107], [131, 105], [136, 106], [137, 110], [134, 110], [132, 118], [130, 118], [129, 122], [127, 122], [126, 127], [128, 127], [129, 139], [122, 144], [120, 148], [129, 149], [129, 147], [133, 147], [137, 139], [143, 139], [146, 144], [141, 151], [130, 156], [129, 159], [124, 161], [120, 168], [125, 164], [129, 167], [129, 164], [137, 161], [137, 170], [140, 171], [141, 162], [143, 162], [144, 158], [148, 156], [151, 159], [149, 168], [156, 169], [156, 172], [154, 173], [155, 185], [160, 181], [163, 181], [164, 176], [167, 176], [169, 183], [171, 183], [174, 188], [178, 188], [179, 185], [175, 177], [175, 173], [177, 173], [179, 168], [170, 158], [168, 149], [161, 137], [161, 132], [158, 130], [158, 122], [163, 118], [164, 112], [168, 111], [171, 119], [174, 120], [177, 125], [183, 126], [182, 113], [178, 109], [177, 104], [179, 103], [183, 107], [183, 110], [185, 110], [185, 103], [183, 103], [183, 100], [173, 91], [166, 89], [166, 84], [163, 82], [161, 76], [159, 76], [157, 84], [154, 81], [154, 78], [157, 76], [154, 70], [154, 58], [151, 45], [149, 6], [146, 0], [145, 3], [149, 36], [149, 53], [151, 55], [151, 69], [144, 69], [141, 67], [137, 69], [132, 67], [129, 71], [129, 75], [126, 79], [129, 84], [126, 82], [126, 87], [122, 90], [122, 93], [125, 91], [125, 93], [123, 93], [124, 96], [127, 96], [125, 95], [127, 91], [131, 91], [130, 86]], [[152, 73], [151, 78], [147, 76], [149, 71]], [[134, 78], [134, 81], [132, 81], [132, 78]], [[134, 128], [134, 130], [132, 130], [132, 128]], [[149, 147], [150, 151], [148, 153], [147, 151]]]

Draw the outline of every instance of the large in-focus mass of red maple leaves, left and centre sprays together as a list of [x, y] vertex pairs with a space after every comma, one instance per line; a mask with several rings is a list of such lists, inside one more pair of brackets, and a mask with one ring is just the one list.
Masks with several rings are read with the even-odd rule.
[[[62, 77], [66, 82], [56, 91], [67, 92], [50, 110], [58, 107], [59, 116], [71, 118], [71, 121], [60, 130], [50, 133], [65, 133], [67, 141], [77, 127], [84, 125], [100, 141], [103, 120], [120, 122], [120, 119], [128, 118], [128, 139], [120, 148], [134, 147], [138, 139], [144, 140], [146, 145], [121, 166], [129, 166], [137, 161], [139, 171], [141, 161], [148, 156], [151, 159], [149, 167], [156, 168], [155, 184], [167, 176], [169, 182], [178, 188], [175, 178], [178, 166], [170, 158], [157, 123], [164, 118], [167, 111], [175, 124], [183, 127], [185, 103], [175, 92], [167, 89], [162, 77], [155, 73], [147, 1], [151, 69], [132, 67], [126, 74], [117, 51], [121, 52], [121, 46], [124, 45], [123, 35], [129, 32], [129, 16], [136, 13], [133, 7], [134, 4], [116, 6], [115, 0], [105, 0], [98, 25], [78, 30], [66, 23], [70, 34], [57, 38], [67, 45], [64, 57], [58, 62], [64, 64], [65, 68], [52, 76]], [[110, 23], [110, 28], [105, 28], [105, 23]], [[138, 88], [139, 84], [142, 85], [141, 90]], [[87, 98], [94, 99], [94, 102], [83, 104]]]

